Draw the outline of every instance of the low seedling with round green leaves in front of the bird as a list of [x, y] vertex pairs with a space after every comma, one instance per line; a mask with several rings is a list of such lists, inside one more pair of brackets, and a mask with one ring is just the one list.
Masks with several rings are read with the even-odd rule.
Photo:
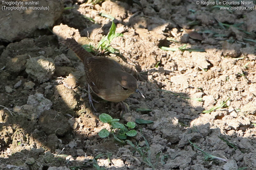
[[[136, 126], [135, 122], [127, 122], [124, 125], [123, 123], [118, 122], [119, 119], [113, 119], [106, 113], [102, 113], [99, 118], [101, 122], [108, 123], [110, 125], [110, 132], [107, 129], [100, 130], [99, 136], [101, 138], [108, 137], [110, 134], [113, 134], [116, 141], [125, 144], [123, 140], [126, 139], [127, 136], [134, 137], [137, 135], [137, 131], [133, 129]], [[114, 131], [115, 129], [117, 129], [116, 132]]]

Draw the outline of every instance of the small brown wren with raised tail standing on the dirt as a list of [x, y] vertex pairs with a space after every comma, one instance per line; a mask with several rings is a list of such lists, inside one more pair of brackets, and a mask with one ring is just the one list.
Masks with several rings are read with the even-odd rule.
[[[125, 72], [116, 61], [105, 57], [95, 57], [80, 46], [73, 38], [68, 38], [62, 41], [62, 43], [73, 50], [77, 57], [84, 63], [89, 103], [95, 111], [90, 88], [101, 99], [112, 102], [122, 102], [135, 92], [145, 98], [138, 90], [137, 80], [131, 74]], [[124, 106], [123, 103], [121, 105], [122, 107]]]

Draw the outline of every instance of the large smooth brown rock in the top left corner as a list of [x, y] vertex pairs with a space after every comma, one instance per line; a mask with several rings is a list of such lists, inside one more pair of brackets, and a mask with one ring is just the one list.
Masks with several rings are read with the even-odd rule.
[[[29, 1], [32, 2], [32, 0]], [[38, 29], [52, 27], [64, 10], [62, 0], [40, 0], [38, 5], [23, 4], [21, 6], [27, 9], [4, 10], [0, 13], [0, 40], [12, 42], [31, 37]], [[49, 10], [29, 10], [29, 7], [41, 8], [42, 6], [48, 7]], [[9, 33], [10, 30], [12, 33]]]

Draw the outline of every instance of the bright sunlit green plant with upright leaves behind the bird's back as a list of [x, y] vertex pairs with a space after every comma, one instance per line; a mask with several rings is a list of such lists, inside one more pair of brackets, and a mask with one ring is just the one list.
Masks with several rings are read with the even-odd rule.
[[107, 36], [104, 36], [98, 46], [97, 46], [97, 49], [101, 49], [102, 52], [104, 51], [108, 51], [110, 53], [119, 53], [119, 50], [116, 49], [116, 48], [113, 48], [111, 46], [111, 41], [113, 41], [114, 38], [118, 37], [118, 36], [123, 36], [122, 33], [116, 33], [116, 25], [114, 23], [114, 17], [112, 17], [111, 15], [108, 15], [108, 14], [105, 14], [105, 13], [101, 13], [101, 16], [102, 17], [106, 17], [106, 18], [109, 18], [112, 20], [112, 24], [111, 24], [111, 27], [109, 29], [109, 32], [108, 32], [108, 35]]

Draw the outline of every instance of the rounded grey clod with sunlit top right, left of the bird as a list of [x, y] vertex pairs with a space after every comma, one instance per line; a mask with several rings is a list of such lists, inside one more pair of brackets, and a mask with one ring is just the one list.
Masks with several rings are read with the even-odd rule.
[[55, 66], [51, 58], [39, 56], [28, 59], [26, 63], [26, 72], [28, 75], [39, 83], [44, 83], [52, 78]]

